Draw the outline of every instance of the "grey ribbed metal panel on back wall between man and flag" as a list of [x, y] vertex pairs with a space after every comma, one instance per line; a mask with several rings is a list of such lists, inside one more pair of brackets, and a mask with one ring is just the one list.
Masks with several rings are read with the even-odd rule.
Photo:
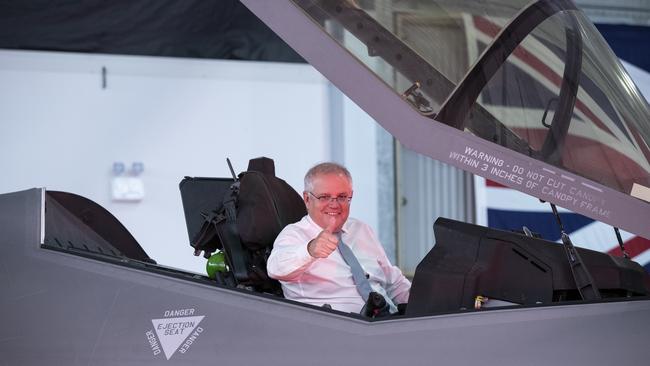
[[[417, 13], [397, 13], [396, 34], [408, 39], [427, 60], [453, 82], [462, 79], [467, 69], [465, 31], [459, 23]], [[426, 34], [427, 37], [423, 37]], [[431, 39], [440, 40], [431, 47]], [[442, 41], [444, 39], [444, 41]], [[449, 45], [454, 45], [450, 47]], [[396, 74], [397, 90], [406, 90], [411, 81]], [[436, 106], [439, 108], [439, 106]], [[434, 108], [434, 109], [437, 109]], [[434, 245], [433, 222], [440, 216], [473, 222], [473, 184], [471, 174], [431, 159], [415, 151], [399, 148], [399, 266], [409, 275]]]

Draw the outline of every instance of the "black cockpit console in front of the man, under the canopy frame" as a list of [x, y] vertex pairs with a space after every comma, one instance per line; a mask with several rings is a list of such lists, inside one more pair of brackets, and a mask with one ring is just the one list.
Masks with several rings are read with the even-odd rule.
[[[477, 296], [519, 305], [581, 300], [560, 243], [439, 218], [418, 265], [407, 315], [473, 309]], [[636, 262], [577, 248], [603, 298], [650, 295]]]

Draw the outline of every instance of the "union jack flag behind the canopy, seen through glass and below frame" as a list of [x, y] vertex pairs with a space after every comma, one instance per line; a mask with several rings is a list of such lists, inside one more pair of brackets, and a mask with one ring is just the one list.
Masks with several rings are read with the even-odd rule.
[[[470, 39], [475, 40], [468, 44], [470, 59], [475, 59], [495, 39], [504, 24], [503, 19], [478, 16], [465, 19]], [[542, 115], [553, 112], [540, 101], [551, 100], [559, 94], [564, 57], [563, 51], [544, 37], [528, 37], [480, 97], [481, 104], [490, 113], [506, 121], [508, 128], [536, 150], [541, 149], [548, 133], [541, 123]], [[517, 79], [517, 85], [525, 85], [525, 90], [509, 86], [509, 79]], [[593, 78], [581, 73], [561, 164], [564, 169], [629, 192], [633, 182], [646, 186], [650, 183], [650, 149], [630, 122], [630, 116], [621, 112], [621, 102], [616, 105], [611, 100]], [[551, 119], [548, 117], [546, 122]], [[546, 240], [560, 242], [560, 229], [548, 203], [478, 177], [475, 187], [479, 224], [504, 230], [522, 230], [526, 226]], [[623, 255], [611, 226], [558, 209], [574, 245]], [[630, 258], [650, 272], [650, 240], [625, 231], [621, 231], [621, 237]]]

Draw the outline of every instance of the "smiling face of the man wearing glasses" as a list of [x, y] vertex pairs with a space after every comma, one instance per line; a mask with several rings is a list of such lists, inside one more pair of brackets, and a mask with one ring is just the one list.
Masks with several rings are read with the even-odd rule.
[[336, 199], [321, 202], [317, 197], [352, 197], [352, 183], [343, 174], [319, 174], [312, 179], [311, 192], [303, 192], [307, 213], [322, 229], [334, 219], [334, 232], [341, 230], [350, 215], [350, 202], [340, 203]]

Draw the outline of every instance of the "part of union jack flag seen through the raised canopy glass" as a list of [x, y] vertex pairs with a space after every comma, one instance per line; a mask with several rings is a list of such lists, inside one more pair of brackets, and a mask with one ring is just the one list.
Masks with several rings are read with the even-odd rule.
[[[505, 20], [478, 16], [466, 21], [475, 40], [475, 49], [469, 47], [470, 59], [495, 39], [503, 23]], [[549, 39], [549, 33], [532, 33], [519, 44], [479, 99], [537, 151], [541, 151], [550, 131], [548, 124], [557, 107], [568, 57], [566, 50]], [[623, 92], [613, 88], [617, 83], [613, 76], [595, 71], [599, 67], [618, 69], [613, 58], [601, 57], [601, 61], [590, 53], [599, 47], [594, 45], [596, 41], [583, 39], [582, 71], [560, 164], [563, 169], [629, 193], [633, 183], [650, 186], [650, 147], [641, 137], [636, 126], [639, 116], [635, 114], [644, 106], [619, 98], [624, 93], [637, 93], [627, 75], [622, 76], [626, 83]]]

